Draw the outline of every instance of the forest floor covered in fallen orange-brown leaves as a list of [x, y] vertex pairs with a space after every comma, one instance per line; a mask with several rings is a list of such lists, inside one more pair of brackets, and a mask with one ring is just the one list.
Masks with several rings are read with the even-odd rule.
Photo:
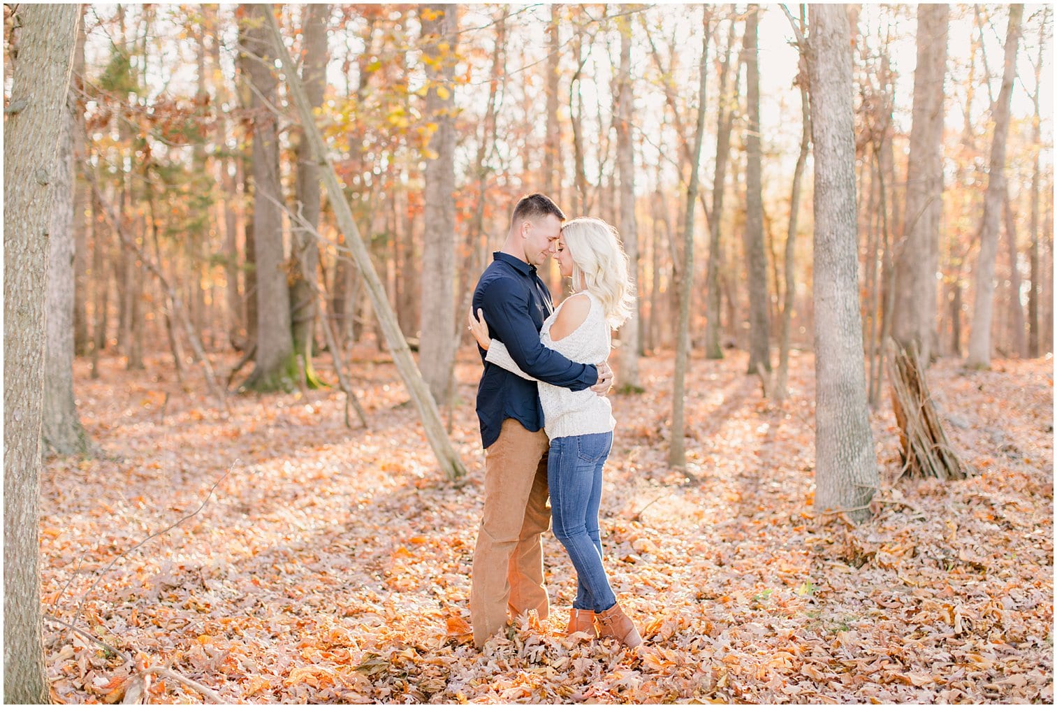
[[[667, 357], [642, 360], [646, 393], [612, 396], [602, 543], [648, 645], [636, 656], [560, 636], [575, 584], [550, 534], [552, 617], [483, 652], [469, 641], [483, 487], [469, 349], [461, 485], [373, 348], [353, 371], [369, 429], [345, 427], [336, 390], [233, 395], [227, 415], [204, 386], [181, 390], [167, 357], [138, 372], [104, 358], [95, 380], [78, 361], [100, 452], [47, 462], [42, 593], [94, 638], [45, 622], [53, 696], [119, 701], [136, 667], [161, 665], [229, 703], [1052, 704], [1053, 361], [929, 370], [978, 472], [961, 482], [895, 479], [886, 396], [875, 516], [857, 527], [811, 511], [811, 355], [793, 357], [782, 407], [745, 364], [691, 360], [688, 474], [665, 462]], [[203, 701], [154, 675], [145, 700]]]

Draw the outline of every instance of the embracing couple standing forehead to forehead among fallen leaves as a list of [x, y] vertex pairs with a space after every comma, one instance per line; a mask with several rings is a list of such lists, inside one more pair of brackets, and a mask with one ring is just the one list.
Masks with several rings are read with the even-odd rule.
[[[630, 316], [633, 285], [612, 226], [564, 220], [543, 194], [522, 198], [474, 292], [469, 329], [484, 360], [484, 515], [469, 600], [479, 649], [508, 615], [549, 615], [541, 536], [552, 515], [578, 579], [567, 634], [642, 644], [610, 588], [598, 529], [615, 425], [605, 395], [613, 384], [610, 330]], [[573, 290], [557, 309], [536, 272], [552, 255]]]

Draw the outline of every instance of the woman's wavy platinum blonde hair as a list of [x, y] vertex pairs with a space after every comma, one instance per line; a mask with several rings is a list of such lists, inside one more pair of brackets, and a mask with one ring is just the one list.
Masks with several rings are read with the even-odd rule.
[[601, 219], [582, 217], [567, 221], [561, 236], [573, 258], [573, 287], [598, 298], [610, 327], [619, 328], [632, 315], [635, 284], [616, 229]]

